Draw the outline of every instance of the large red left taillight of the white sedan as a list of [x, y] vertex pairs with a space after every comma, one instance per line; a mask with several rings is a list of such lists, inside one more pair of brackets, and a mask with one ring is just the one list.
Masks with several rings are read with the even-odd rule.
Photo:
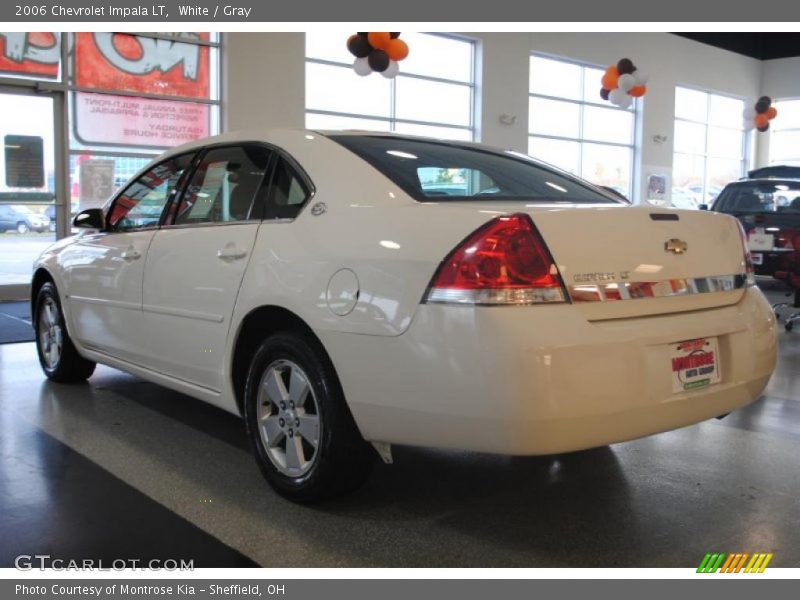
[[558, 268], [524, 214], [480, 227], [442, 262], [425, 302], [542, 304], [566, 302]]

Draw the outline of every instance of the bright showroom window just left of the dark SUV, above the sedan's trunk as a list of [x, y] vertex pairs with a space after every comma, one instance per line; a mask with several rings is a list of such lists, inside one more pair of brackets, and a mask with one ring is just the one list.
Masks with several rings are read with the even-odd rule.
[[710, 204], [746, 169], [744, 100], [687, 87], [675, 88], [672, 204]]

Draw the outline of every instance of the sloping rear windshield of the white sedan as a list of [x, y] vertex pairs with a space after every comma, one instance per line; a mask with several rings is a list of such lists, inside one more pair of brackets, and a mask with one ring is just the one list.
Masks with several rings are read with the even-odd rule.
[[419, 202], [525, 200], [624, 204], [624, 200], [515, 152], [389, 136], [333, 135]]

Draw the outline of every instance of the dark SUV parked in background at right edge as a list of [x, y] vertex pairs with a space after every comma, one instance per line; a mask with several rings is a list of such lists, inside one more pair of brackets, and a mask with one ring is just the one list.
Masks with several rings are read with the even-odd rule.
[[764, 167], [748, 175], [728, 184], [711, 209], [742, 223], [757, 275], [792, 271], [800, 249], [800, 167]]

